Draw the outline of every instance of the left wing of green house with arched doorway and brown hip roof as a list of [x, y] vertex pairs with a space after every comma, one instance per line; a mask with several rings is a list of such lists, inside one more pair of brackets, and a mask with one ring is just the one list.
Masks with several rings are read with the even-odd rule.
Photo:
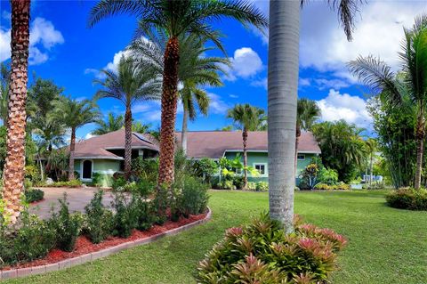
[[[133, 132], [132, 158], [153, 158], [157, 153], [155, 142], [144, 134]], [[93, 173], [122, 172], [125, 168], [125, 129], [77, 142], [74, 158], [74, 170], [82, 182], [92, 182]]]

